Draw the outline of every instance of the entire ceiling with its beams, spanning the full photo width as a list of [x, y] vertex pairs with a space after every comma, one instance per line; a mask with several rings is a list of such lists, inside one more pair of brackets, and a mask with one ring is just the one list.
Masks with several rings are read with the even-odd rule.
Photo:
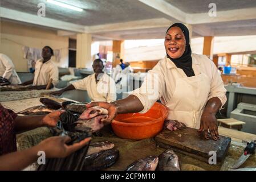
[[[78, 29], [72, 28], [79, 26], [79, 30], [81, 27], [82, 30], [91, 30], [90, 34], [97, 40], [164, 38], [165, 30], [170, 24], [174, 21], [182, 22], [178, 20], [180, 16], [186, 19], [193, 15], [196, 18], [192, 20], [198, 22], [192, 22], [193, 37], [256, 35], [255, 0], [57, 0], [84, 9], [82, 13], [51, 5], [46, 0], [0, 1], [1, 7], [5, 9], [27, 14], [24, 19], [1, 15], [3, 20], [12, 19], [71, 32], [78, 32]], [[27, 21], [30, 16], [36, 17], [38, 3], [42, 2], [46, 4], [46, 18], [58, 20], [57, 23], [51, 23], [54, 26], [40, 24], [42, 19]], [[210, 9], [208, 5], [212, 2], [217, 5], [216, 19], [207, 17]], [[178, 9], [177, 13], [174, 11], [175, 7]], [[230, 13], [230, 10], [235, 12]], [[220, 11], [222, 13], [218, 14]], [[201, 19], [206, 20], [200, 23]]]

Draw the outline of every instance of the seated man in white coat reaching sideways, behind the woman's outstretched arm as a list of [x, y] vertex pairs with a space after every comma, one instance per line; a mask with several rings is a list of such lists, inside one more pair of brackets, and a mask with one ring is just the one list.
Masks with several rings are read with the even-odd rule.
[[88, 96], [93, 102], [103, 101], [112, 102], [116, 100], [115, 81], [103, 72], [103, 61], [101, 59], [94, 60], [92, 64], [94, 74], [76, 81], [62, 90], [52, 92], [51, 94], [60, 96], [67, 90], [87, 90]]

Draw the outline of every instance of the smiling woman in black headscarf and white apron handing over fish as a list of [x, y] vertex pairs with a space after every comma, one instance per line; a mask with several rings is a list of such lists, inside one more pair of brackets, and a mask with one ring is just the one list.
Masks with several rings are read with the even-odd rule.
[[168, 107], [166, 119], [177, 120], [203, 132], [209, 139], [218, 139], [216, 113], [226, 102], [224, 82], [213, 61], [205, 55], [192, 53], [189, 30], [182, 23], [174, 23], [165, 34], [166, 56], [148, 72], [141, 88], [125, 99], [94, 102], [109, 111], [104, 122], [111, 122], [116, 114], [145, 113], [157, 100]]

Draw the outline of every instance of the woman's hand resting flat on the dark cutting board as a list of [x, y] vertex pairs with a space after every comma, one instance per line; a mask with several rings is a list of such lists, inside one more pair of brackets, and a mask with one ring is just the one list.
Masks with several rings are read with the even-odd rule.
[[204, 132], [204, 137], [209, 139], [208, 130], [214, 140], [220, 139], [218, 133], [218, 122], [215, 117], [215, 113], [211, 113], [208, 110], [204, 110], [201, 116], [200, 129], [198, 132]]

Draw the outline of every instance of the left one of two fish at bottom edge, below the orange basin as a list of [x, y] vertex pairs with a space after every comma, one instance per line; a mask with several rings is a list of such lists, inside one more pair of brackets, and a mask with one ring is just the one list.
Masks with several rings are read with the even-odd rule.
[[130, 164], [127, 171], [155, 171], [158, 163], [159, 158], [157, 156], [148, 156]]

